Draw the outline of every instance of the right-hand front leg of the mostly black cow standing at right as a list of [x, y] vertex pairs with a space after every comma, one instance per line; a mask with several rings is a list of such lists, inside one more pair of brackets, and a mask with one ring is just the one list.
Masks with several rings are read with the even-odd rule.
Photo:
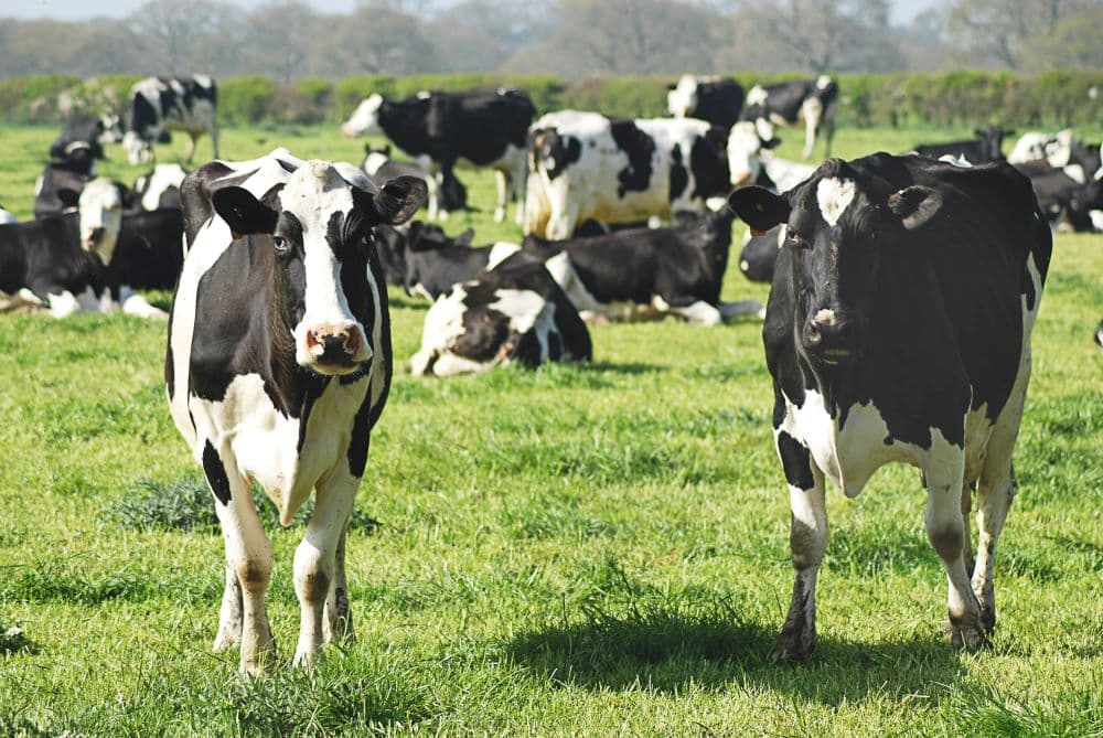
[[962, 482], [965, 453], [941, 438], [923, 467], [927, 479], [927, 537], [942, 558], [949, 579], [949, 622], [955, 649], [976, 650], [985, 644], [981, 611], [965, 571], [965, 525], [962, 518]]

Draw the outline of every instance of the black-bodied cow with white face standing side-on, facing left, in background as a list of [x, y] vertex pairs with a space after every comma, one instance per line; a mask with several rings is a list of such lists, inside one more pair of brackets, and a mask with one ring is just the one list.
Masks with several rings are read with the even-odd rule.
[[[505, 207], [516, 193], [524, 211], [525, 137], [536, 115], [528, 95], [520, 89], [468, 93], [425, 92], [392, 101], [375, 94], [363, 100], [341, 126], [345, 136], [383, 133], [410, 157], [425, 157], [445, 182], [456, 167], [492, 169], [497, 178], [494, 220], [505, 220]], [[430, 189], [429, 217], [440, 208]]]

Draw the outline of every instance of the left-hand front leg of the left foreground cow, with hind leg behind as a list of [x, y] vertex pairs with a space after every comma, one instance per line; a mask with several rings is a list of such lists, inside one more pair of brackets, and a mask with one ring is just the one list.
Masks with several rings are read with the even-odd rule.
[[[276, 662], [276, 642], [265, 608], [265, 592], [272, 574], [272, 547], [257, 517], [248, 481], [237, 473], [235, 464], [225, 463], [210, 442], [206, 448], [203, 471], [215, 495], [215, 513], [226, 542], [227, 582], [215, 649], [228, 648], [235, 641], [236, 599], [240, 591], [240, 669], [246, 674], [259, 674]], [[237, 585], [228, 581], [229, 573], [235, 575]]]

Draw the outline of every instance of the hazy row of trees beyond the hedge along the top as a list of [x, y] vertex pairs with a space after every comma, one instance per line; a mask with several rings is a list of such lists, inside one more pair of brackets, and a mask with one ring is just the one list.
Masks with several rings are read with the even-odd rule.
[[0, 19], [0, 77], [1103, 68], [1099, 0], [952, 0], [908, 25], [887, 0], [150, 0], [128, 18]]

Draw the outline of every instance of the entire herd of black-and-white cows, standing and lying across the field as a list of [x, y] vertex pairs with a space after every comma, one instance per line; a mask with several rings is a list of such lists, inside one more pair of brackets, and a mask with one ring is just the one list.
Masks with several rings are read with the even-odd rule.
[[[352, 634], [344, 532], [392, 381], [387, 282], [432, 300], [408, 365], [418, 375], [585, 361], [592, 320], [764, 317], [795, 568], [777, 657], [815, 646], [825, 479], [853, 496], [890, 461], [923, 471], [952, 640], [978, 648], [995, 622], [993, 555], [1051, 223], [1093, 227], [1100, 147], [1029, 133], [1005, 161], [996, 128], [817, 168], [772, 154], [781, 125], [804, 125], [805, 156], [821, 133], [829, 147], [837, 97], [827, 77], [746, 96], [730, 81], [684, 77], [670, 118], [534, 120], [513, 89], [372, 95], [342, 130], [382, 133], [409, 161], [370, 149], [355, 167], [276, 149], [191, 172], [158, 164], [135, 186], [96, 178], [120, 132], [136, 162], [168, 129], [192, 136], [189, 153], [202, 132], [216, 140], [210, 79], [148, 79], [124, 131], [92, 121], [51, 147], [35, 220], [0, 225], [0, 290], [9, 308], [55, 315], [165, 317], [133, 290], [175, 288], [169, 403], [225, 534], [215, 646], [240, 645], [246, 671], [275, 652], [253, 481], [285, 523], [318, 490], [295, 555], [296, 661]], [[473, 246], [470, 231], [408, 223], [427, 201], [433, 215], [467, 206], [462, 168], [496, 173], [495, 217], [515, 199], [522, 243]], [[743, 272], [772, 282], [765, 308], [720, 300], [736, 216], [751, 234]], [[977, 483], [974, 558], [963, 511]]]

